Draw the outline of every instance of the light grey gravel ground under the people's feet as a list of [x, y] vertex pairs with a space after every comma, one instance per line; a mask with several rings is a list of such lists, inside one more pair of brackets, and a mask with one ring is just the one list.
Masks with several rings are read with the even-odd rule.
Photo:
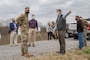
[[[29, 47], [29, 53], [37, 56], [42, 53], [55, 52], [59, 51], [59, 42], [58, 40], [50, 40], [50, 41], [37, 41], [35, 42], [36, 47]], [[90, 46], [90, 41], [88, 41], [88, 45]], [[72, 38], [66, 39], [66, 49], [69, 50], [71, 48], [78, 47], [78, 40], [74, 40]], [[0, 60], [26, 60], [26, 57], [21, 56], [21, 47], [9, 45], [0, 46]]]

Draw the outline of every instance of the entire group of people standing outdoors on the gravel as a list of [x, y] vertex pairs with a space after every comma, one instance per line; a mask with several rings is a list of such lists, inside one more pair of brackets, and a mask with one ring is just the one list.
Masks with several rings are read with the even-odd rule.
[[[38, 23], [37, 20], [35, 20], [35, 15], [32, 15], [32, 19], [28, 21], [28, 14], [30, 12], [29, 7], [25, 8], [25, 13], [21, 14], [17, 19], [15, 23], [15, 19], [12, 19], [12, 23], [10, 23], [10, 45], [12, 45], [13, 39], [15, 38], [15, 45], [17, 45], [17, 36], [18, 28], [21, 29], [21, 52], [22, 56], [32, 56], [32, 54], [28, 53], [28, 47], [31, 46], [31, 42], [33, 47], [34, 41], [36, 40], [36, 32], [38, 30]], [[66, 53], [66, 43], [65, 43], [65, 33], [66, 33], [66, 18], [68, 15], [70, 15], [72, 12], [69, 11], [66, 15], [62, 14], [61, 9], [56, 10], [57, 13], [57, 19], [56, 22], [52, 22], [52, 24], [48, 23], [47, 26], [47, 32], [48, 32], [48, 40], [51, 39], [51, 36], [53, 38], [59, 39], [60, 44], [60, 50], [57, 53], [65, 54]], [[79, 48], [82, 49], [83, 47], [83, 37], [86, 36], [86, 27], [88, 26], [87, 22], [81, 21], [79, 16], [75, 17], [77, 21], [77, 32], [78, 32], [78, 39], [79, 39]], [[83, 24], [85, 23], [85, 24]], [[56, 36], [55, 33], [56, 32]], [[84, 32], [84, 34], [83, 34]], [[58, 33], [58, 34], [57, 34]], [[86, 46], [86, 37], [84, 38], [85, 46]]]

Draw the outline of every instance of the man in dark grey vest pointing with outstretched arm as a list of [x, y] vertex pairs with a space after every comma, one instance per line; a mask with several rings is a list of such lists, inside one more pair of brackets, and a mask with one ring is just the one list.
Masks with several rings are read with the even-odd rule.
[[60, 51], [58, 53], [65, 54], [66, 17], [71, 14], [71, 11], [69, 11], [66, 15], [63, 15], [61, 9], [57, 9], [56, 13], [58, 16], [56, 19], [56, 27], [54, 31], [58, 31], [58, 38], [60, 44]]

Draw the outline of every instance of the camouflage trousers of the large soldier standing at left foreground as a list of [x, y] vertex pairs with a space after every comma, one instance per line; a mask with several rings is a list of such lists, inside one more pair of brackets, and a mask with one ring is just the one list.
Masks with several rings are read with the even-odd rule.
[[28, 30], [21, 31], [21, 52], [28, 54]]

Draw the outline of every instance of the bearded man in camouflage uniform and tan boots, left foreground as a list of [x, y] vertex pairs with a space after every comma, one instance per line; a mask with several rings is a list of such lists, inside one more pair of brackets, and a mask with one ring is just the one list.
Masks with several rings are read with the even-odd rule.
[[25, 8], [25, 13], [21, 14], [17, 18], [17, 23], [19, 27], [21, 28], [21, 51], [22, 51], [22, 56], [32, 56], [28, 54], [28, 28], [29, 28], [29, 23], [28, 23], [28, 14], [29, 14], [29, 7]]

